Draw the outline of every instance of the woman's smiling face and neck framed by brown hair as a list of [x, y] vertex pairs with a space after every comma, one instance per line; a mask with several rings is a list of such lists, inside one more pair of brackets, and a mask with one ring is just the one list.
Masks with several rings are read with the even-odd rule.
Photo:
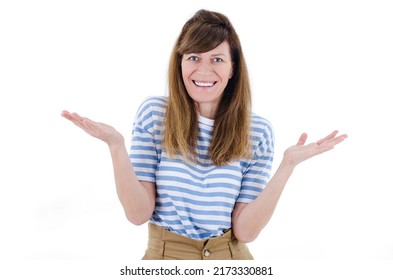
[[214, 118], [222, 93], [232, 77], [228, 42], [205, 53], [188, 53], [182, 58], [182, 77], [199, 113]]

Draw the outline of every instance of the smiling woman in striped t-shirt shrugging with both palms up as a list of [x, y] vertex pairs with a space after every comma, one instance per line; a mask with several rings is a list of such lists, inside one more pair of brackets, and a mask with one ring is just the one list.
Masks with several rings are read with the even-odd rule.
[[149, 221], [143, 259], [253, 259], [246, 243], [269, 221], [294, 168], [346, 135], [304, 145], [302, 134], [269, 180], [273, 130], [250, 108], [234, 28], [224, 15], [200, 10], [174, 46], [169, 97], [148, 98], [138, 110], [130, 155], [111, 126], [62, 116], [108, 144], [128, 220]]

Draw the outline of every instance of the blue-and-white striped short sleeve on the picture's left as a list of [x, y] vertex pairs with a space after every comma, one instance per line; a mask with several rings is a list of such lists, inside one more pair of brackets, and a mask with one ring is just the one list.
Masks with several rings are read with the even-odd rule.
[[139, 107], [132, 129], [130, 160], [141, 181], [155, 182], [158, 163], [157, 121], [154, 118], [152, 99]]

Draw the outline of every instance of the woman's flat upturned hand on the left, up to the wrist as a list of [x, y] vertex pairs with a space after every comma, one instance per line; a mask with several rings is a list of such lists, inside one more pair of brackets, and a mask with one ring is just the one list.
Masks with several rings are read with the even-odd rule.
[[61, 116], [73, 122], [91, 136], [104, 141], [109, 147], [124, 146], [124, 137], [110, 125], [95, 122], [81, 117], [77, 113], [70, 113], [68, 111], [63, 111]]

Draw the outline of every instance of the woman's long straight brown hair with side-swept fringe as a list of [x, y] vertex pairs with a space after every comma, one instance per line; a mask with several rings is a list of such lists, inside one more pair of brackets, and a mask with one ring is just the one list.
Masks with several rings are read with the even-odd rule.
[[187, 159], [196, 158], [198, 115], [182, 79], [182, 57], [207, 52], [224, 41], [230, 47], [233, 73], [216, 112], [208, 155], [217, 166], [250, 157], [251, 91], [240, 40], [226, 16], [206, 10], [199, 10], [186, 22], [170, 58], [164, 135], [169, 156], [180, 153]]

